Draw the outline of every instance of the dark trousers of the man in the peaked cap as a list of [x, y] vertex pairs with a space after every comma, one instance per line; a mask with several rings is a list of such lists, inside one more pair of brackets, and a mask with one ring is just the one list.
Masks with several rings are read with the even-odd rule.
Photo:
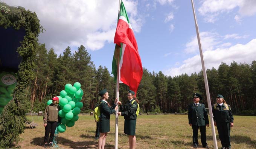
[[200, 133], [201, 133], [201, 143], [205, 147], [205, 146], [207, 146], [207, 143], [206, 143], [206, 126], [192, 125], [192, 129], [193, 129], [193, 145], [194, 146], [198, 146], [198, 139], [197, 139], [198, 128], [200, 129]]

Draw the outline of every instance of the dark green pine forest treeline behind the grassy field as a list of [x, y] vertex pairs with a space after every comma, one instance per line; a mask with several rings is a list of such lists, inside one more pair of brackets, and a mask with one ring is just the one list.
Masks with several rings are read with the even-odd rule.
[[[97, 69], [91, 61], [91, 56], [83, 45], [75, 53], [67, 47], [62, 54], [49, 51], [44, 44], [37, 47], [34, 79], [32, 80], [28, 98], [31, 109], [35, 112], [44, 110], [46, 102], [59, 95], [67, 83], [79, 82], [84, 91], [82, 112], [91, 112], [99, 102], [98, 92], [107, 88], [112, 103], [116, 95], [116, 83], [109, 70], [104, 66]], [[111, 70], [110, 70], [111, 71]], [[256, 61], [251, 64], [222, 62], [218, 69], [207, 69], [211, 104], [216, 102], [216, 95], [224, 96], [232, 107], [233, 113], [256, 111]], [[129, 87], [120, 83], [119, 100], [127, 101]], [[193, 102], [192, 94], [198, 92], [203, 96], [202, 103], [206, 104], [206, 91], [203, 72], [182, 74], [171, 77], [160, 72], [149, 72], [143, 68], [137, 98], [140, 101], [140, 111], [182, 113]]]

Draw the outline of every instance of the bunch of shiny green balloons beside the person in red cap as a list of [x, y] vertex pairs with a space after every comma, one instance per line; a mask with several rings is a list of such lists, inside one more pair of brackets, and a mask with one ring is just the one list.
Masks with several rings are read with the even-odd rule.
[[[59, 133], [64, 133], [67, 127], [73, 127], [78, 120], [78, 114], [81, 112], [83, 103], [82, 100], [83, 90], [79, 82], [65, 85], [65, 90], [60, 92], [59, 98], [59, 117], [61, 118], [61, 124], [58, 125], [57, 130]], [[49, 105], [52, 101], [47, 101]], [[66, 127], [67, 126], [67, 127]]]

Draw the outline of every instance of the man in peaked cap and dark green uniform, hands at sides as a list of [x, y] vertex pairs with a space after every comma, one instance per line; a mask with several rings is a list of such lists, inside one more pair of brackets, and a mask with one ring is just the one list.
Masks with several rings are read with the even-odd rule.
[[206, 143], [206, 126], [209, 127], [209, 119], [207, 115], [207, 111], [205, 109], [205, 105], [199, 103], [202, 100], [202, 96], [198, 93], [193, 94], [194, 103], [190, 104], [188, 107], [188, 118], [189, 125], [192, 126], [193, 129], [193, 147], [198, 147], [198, 128], [201, 133], [201, 143], [204, 148], [208, 149], [208, 145]]

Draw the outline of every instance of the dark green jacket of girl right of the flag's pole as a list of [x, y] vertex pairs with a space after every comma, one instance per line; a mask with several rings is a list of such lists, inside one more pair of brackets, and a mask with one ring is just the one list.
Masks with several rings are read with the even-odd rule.
[[125, 119], [137, 119], [136, 110], [138, 108], [137, 101], [134, 101], [133, 105], [131, 104], [131, 101], [128, 101], [125, 106], [120, 106], [121, 115], [124, 116]]

